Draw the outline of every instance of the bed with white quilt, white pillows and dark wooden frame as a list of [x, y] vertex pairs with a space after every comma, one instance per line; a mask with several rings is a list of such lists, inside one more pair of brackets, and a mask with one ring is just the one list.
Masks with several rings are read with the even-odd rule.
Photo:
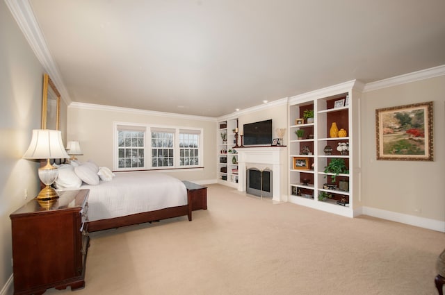
[[[81, 180], [80, 185], [76, 178]], [[99, 168], [92, 162], [74, 167], [62, 165], [59, 167], [56, 186], [60, 190], [90, 189], [88, 196], [90, 232], [185, 215], [189, 221], [192, 220], [192, 202], [187, 194], [186, 185], [163, 172], [112, 173], [109, 169]]]

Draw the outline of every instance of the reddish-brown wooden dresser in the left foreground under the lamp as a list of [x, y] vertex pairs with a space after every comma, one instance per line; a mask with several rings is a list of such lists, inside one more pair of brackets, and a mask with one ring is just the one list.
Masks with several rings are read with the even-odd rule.
[[89, 192], [60, 192], [49, 208], [33, 199], [10, 214], [14, 294], [85, 287]]

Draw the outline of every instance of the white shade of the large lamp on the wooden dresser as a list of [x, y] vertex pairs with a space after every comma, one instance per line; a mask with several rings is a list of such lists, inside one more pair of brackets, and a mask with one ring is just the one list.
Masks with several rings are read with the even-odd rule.
[[25, 159], [70, 158], [63, 147], [62, 132], [59, 130], [34, 129], [31, 144], [23, 155]]

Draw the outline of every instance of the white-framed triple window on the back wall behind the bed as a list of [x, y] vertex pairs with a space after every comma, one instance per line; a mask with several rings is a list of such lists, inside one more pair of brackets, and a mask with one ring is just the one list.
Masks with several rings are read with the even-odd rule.
[[202, 128], [115, 123], [114, 169], [202, 167]]

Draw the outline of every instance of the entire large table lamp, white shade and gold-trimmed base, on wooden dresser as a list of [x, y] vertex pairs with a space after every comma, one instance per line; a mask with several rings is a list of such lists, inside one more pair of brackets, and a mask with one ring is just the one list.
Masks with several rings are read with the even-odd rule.
[[51, 165], [50, 159], [70, 158], [63, 148], [62, 132], [59, 130], [35, 129], [28, 150], [23, 155], [25, 159], [47, 160], [47, 165], [40, 167], [40, 181], [46, 185], [38, 194], [38, 201], [50, 201], [58, 198], [51, 185], [58, 176], [58, 169]]

